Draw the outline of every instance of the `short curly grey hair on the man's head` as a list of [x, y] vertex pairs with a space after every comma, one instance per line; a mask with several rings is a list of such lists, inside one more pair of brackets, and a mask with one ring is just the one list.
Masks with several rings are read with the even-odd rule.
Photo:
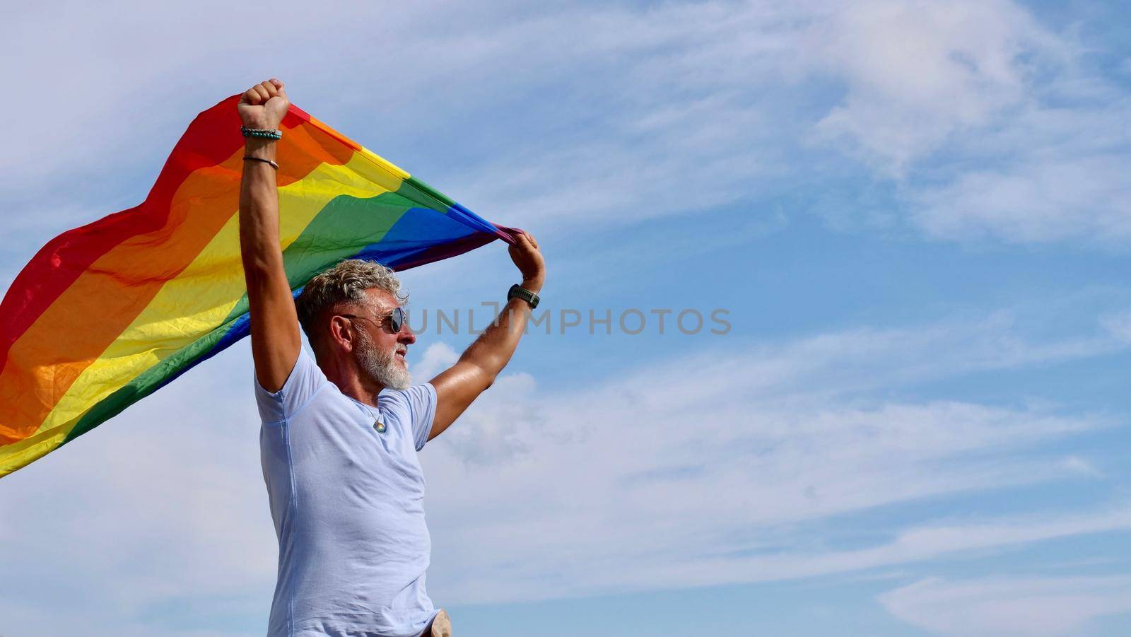
[[402, 304], [408, 295], [400, 294], [400, 281], [391, 268], [362, 259], [346, 259], [310, 279], [302, 294], [295, 299], [299, 324], [313, 344], [314, 327], [322, 312], [338, 303], [364, 301], [364, 291], [375, 287], [385, 290]]

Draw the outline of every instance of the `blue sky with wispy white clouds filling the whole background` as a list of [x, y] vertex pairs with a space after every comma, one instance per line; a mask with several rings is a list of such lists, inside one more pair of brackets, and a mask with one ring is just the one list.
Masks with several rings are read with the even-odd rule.
[[[0, 24], [0, 285], [279, 77], [534, 232], [552, 312], [728, 312], [554, 322], [429, 444], [429, 589], [459, 635], [1125, 635], [1120, 9], [28, 6]], [[404, 279], [421, 312], [515, 275], [493, 244]], [[422, 335], [414, 375], [470, 338]], [[3, 480], [0, 635], [264, 632], [251, 375], [233, 346]]]

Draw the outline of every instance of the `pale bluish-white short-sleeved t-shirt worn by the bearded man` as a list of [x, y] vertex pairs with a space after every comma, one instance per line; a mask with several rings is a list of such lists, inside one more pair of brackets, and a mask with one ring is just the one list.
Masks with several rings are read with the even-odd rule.
[[416, 637], [437, 613], [424, 587], [432, 542], [416, 458], [435, 389], [385, 390], [372, 407], [305, 351], [277, 393], [254, 386], [279, 541], [268, 637]]

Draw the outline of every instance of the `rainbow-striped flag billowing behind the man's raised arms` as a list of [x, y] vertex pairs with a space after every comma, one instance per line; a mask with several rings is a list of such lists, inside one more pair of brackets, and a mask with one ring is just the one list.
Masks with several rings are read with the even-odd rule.
[[[145, 203], [60, 234], [12, 282], [0, 302], [0, 476], [248, 335], [238, 100], [192, 121]], [[282, 129], [279, 239], [295, 294], [345, 258], [405, 269], [513, 241], [296, 106]]]

